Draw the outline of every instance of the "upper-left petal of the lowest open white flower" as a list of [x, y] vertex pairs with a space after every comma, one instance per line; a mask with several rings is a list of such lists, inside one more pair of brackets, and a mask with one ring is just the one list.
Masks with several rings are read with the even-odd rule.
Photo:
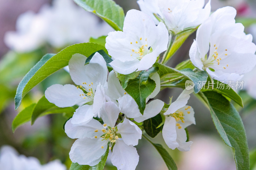
[[[72, 124], [71, 122], [72, 118], [69, 119], [65, 124], [65, 133], [71, 139], [84, 137], [94, 138], [95, 136], [100, 137], [101, 135], [103, 135], [103, 132], [101, 131], [103, 129], [103, 126], [99, 121], [95, 119], [92, 119], [88, 123], [79, 125]], [[95, 132], [95, 130], [98, 131]]]

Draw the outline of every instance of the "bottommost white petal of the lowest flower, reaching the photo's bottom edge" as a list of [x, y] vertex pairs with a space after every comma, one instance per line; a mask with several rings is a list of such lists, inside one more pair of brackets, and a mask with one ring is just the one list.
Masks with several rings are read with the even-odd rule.
[[122, 140], [117, 140], [111, 155], [111, 162], [120, 170], [135, 170], [139, 162], [136, 148], [127, 145]]

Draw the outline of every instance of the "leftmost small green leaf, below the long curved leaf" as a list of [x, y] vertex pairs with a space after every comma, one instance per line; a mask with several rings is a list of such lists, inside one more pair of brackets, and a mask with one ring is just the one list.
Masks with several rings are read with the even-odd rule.
[[26, 107], [24, 110], [22, 110], [13, 120], [12, 122], [12, 132], [14, 133], [15, 130], [20, 127], [22, 124], [30, 121], [32, 112], [34, 110], [34, 107], [36, 106], [36, 103], [31, 104], [30, 106]]

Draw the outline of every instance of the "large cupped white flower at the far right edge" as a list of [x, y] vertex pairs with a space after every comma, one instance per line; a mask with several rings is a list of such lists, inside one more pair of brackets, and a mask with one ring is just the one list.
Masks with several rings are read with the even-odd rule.
[[252, 43], [252, 35], [245, 35], [244, 26], [235, 23], [235, 16], [233, 7], [212, 13], [199, 26], [189, 51], [190, 60], [197, 68], [224, 83], [241, 79], [242, 74], [256, 65], [256, 45]]

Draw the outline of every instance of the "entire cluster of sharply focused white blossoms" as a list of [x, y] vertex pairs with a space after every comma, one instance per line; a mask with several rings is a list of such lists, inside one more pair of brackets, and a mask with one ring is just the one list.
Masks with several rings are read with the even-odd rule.
[[[167, 50], [173, 34], [201, 24], [190, 49], [191, 62], [196, 70], [206, 70], [210, 77], [224, 83], [240, 79], [241, 74], [256, 65], [256, 46], [252, 36], [245, 35], [244, 27], [235, 23], [234, 8], [219, 9], [209, 17], [210, 1], [205, 7], [204, 0], [139, 0], [138, 3], [149, 15], [128, 11], [123, 31], [110, 32], [106, 38], [105, 46], [113, 60], [109, 63], [112, 71], [108, 72], [107, 63], [98, 52], [86, 64], [87, 57], [75, 54], [68, 67], [76, 85], [56, 84], [45, 91], [45, 97], [58, 107], [79, 106], [65, 125], [68, 137], [77, 139], [69, 153], [74, 163], [95, 166], [112, 152], [111, 162], [117, 169], [134, 170], [139, 161], [134, 146], [143, 130], [140, 122], [159, 113], [167, 146], [190, 150], [193, 142], [187, 141], [185, 128], [196, 123], [194, 110], [187, 105], [194, 89], [185, 89], [169, 104], [154, 100], [160, 91], [160, 72], [148, 71]], [[135, 71], [148, 71], [148, 79], [156, 85], [145, 99], [143, 113], [117, 76], [129, 76]]]

